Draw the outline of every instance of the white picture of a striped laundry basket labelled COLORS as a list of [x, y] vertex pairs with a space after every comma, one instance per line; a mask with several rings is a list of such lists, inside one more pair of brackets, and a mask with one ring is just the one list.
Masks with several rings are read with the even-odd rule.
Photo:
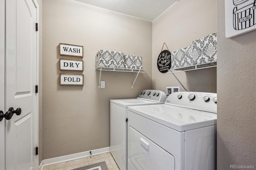
[[225, 0], [226, 38], [256, 30], [256, 0]]

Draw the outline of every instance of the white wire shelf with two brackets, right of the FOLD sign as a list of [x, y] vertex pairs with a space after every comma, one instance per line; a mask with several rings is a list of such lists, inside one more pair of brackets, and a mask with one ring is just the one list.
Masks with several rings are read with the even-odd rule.
[[[101, 71], [119, 71], [119, 72], [132, 72], [137, 73], [136, 78], [134, 82], [132, 83], [132, 89], [133, 85], [139, 75], [139, 73], [145, 73], [145, 69], [127, 69], [127, 68], [111, 68], [111, 67], [97, 67], [96, 70], [100, 71], [100, 79], [101, 79]], [[99, 79], [99, 89], [100, 89], [100, 79]]]

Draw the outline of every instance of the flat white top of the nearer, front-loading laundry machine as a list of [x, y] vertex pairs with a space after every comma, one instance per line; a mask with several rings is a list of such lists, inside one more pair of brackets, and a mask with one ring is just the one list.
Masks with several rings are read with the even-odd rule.
[[[216, 125], [217, 114], [171, 105], [133, 106], [128, 111], [179, 132]], [[130, 112], [128, 112], [129, 118]]]

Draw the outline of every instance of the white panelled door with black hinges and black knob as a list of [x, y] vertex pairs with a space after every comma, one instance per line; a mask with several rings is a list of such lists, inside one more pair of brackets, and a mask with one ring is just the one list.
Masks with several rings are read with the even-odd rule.
[[34, 0], [6, 0], [5, 6], [3, 112], [6, 113], [10, 107], [22, 110], [20, 115], [14, 113], [10, 120], [0, 122], [5, 123], [5, 169], [37, 169], [38, 95], [35, 87], [38, 82], [38, 4]]

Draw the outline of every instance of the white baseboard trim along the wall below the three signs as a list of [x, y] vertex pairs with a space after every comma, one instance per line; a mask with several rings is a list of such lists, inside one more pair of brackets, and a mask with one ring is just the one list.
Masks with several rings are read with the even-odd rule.
[[91, 156], [94, 156], [94, 155], [110, 152], [110, 147], [99, 148], [99, 149], [94, 149], [94, 150], [88, 150], [85, 152], [79, 152], [76, 154], [70, 154], [70, 155], [59, 156], [59, 157], [55, 157], [55, 158], [44, 159], [40, 163], [39, 170], [42, 170], [44, 168], [44, 166], [88, 157], [88, 156], [90, 156], [90, 151], [92, 152]]

